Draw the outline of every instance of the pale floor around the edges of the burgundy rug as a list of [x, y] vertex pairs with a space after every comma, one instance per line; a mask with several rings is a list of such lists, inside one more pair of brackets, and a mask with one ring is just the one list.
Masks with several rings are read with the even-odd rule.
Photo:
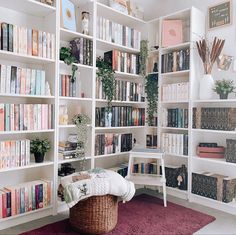
[[[143, 190], [139, 190], [139, 193], [142, 193]], [[152, 191], [145, 191], [148, 194], [155, 195]], [[200, 229], [195, 235], [236, 235], [236, 216], [226, 214], [224, 212], [218, 211], [216, 209], [210, 209], [203, 207], [194, 203], [189, 203], [185, 200], [168, 197], [168, 201], [173, 203], [189, 207], [191, 209], [212, 215], [216, 220], [204, 228]], [[15, 226], [6, 230], [0, 231], [1, 235], [10, 235], [10, 234], [20, 234], [26, 231], [30, 231], [39, 227], [42, 227], [46, 224], [53, 223], [55, 221], [63, 220], [68, 217], [68, 212], [58, 214], [57, 216], [49, 216], [40, 220], [32, 221], [26, 224]], [[122, 234], [121, 234], [122, 235]], [[145, 234], [143, 234], [145, 235]]]

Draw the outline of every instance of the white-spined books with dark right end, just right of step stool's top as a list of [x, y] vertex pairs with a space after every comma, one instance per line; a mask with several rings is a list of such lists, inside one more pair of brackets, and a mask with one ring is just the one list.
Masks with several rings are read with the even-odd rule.
[[166, 153], [188, 155], [188, 134], [161, 134], [161, 149]]

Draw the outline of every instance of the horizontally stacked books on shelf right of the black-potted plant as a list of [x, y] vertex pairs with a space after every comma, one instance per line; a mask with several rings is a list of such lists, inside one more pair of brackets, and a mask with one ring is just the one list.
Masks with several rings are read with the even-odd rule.
[[59, 141], [58, 145], [58, 159], [66, 160], [76, 158], [77, 143], [69, 141]]

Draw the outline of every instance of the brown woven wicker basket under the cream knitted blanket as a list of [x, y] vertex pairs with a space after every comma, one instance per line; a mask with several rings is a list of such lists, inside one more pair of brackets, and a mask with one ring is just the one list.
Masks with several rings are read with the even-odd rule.
[[115, 228], [118, 200], [112, 195], [93, 196], [70, 208], [70, 224], [82, 234], [103, 234]]

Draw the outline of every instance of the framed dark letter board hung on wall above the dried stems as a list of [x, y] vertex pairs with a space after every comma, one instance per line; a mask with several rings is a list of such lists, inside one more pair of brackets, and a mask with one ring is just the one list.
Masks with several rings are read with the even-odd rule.
[[232, 0], [208, 8], [208, 29], [232, 24]]

